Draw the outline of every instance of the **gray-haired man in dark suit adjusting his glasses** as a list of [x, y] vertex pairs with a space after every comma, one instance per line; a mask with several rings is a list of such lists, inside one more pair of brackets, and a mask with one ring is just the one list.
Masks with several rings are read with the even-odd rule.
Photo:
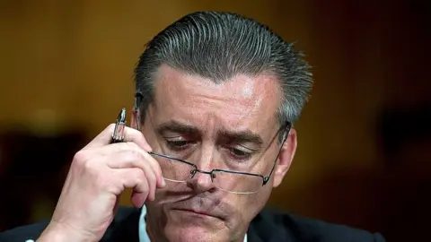
[[[75, 155], [52, 219], [4, 241], [383, 241], [359, 229], [264, 210], [294, 158], [309, 66], [266, 26], [191, 13], [136, 66], [140, 115]], [[118, 208], [134, 189], [140, 209]], [[145, 206], [143, 206], [145, 204]]]

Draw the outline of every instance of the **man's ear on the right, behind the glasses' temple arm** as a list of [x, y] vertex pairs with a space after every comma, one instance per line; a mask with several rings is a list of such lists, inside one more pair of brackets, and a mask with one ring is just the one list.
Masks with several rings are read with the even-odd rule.
[[287, 170], [294, 160], [296, 151], [296, 130], [292, 128], [287, 135], [285, 143], [281, 148], [280, 154], [278, 155], [277, 165], [274, 169], [274, 182], [273, 186], [277, 187], [281, 184], [283, 177], [285, 177]]

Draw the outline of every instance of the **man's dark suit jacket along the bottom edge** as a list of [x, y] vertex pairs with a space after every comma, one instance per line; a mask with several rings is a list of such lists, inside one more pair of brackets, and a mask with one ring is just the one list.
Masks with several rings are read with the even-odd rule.
[[[137, 224], [140, 210], [131, 207], [119, 209], [115, 220], [101, 239], [102, 242], [138, 242]], [[47, 222], [11, 229], [0, 233], [1, 242], [36, 240]], [[251, 221], [248, 242], [383, 242], [380, 234], [347, 226], [329, 224], [320, 220], [298, 218], [292, 214], [264, 210]]]

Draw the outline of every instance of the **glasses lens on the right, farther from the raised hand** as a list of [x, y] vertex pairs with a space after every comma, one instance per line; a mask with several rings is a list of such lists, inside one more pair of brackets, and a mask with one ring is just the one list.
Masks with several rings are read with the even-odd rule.
[[215, 171], [213, 182], [224, 191], [236, 194], [257, 193], [262, 187], [263, 179], [259, 176], [231, 173], [226, 171]]

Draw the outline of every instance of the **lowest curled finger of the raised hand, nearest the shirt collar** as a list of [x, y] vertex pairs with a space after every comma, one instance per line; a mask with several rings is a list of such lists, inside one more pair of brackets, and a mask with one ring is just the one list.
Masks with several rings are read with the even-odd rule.
[[123, 190], [133, 188], [132, 203], [136, 207], [142, 207], [146, 200], [154, 200], [154, 194], [150, 196], [148, 182], [142, 169], [116, 169], [114, 176], [119, 179]]

